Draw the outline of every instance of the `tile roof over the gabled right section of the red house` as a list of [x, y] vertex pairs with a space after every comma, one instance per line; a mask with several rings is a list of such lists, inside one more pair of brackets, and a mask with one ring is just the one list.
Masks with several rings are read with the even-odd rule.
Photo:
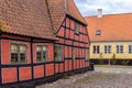
[[47, 0], [47, 2], [55, 30], [58, 30], [66, 14], [73, 16], [84, 24], [87, 24], [79, 10], [75, 6], [74, 0]]

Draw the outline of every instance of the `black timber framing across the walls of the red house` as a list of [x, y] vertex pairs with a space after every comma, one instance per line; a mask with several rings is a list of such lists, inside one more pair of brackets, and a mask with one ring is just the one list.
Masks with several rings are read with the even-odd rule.
[[[66, 18], [68, 18], [69, 19], [69, 28], [67, 28], [66, 26]], [[74, 19], [74, 18], [72, 18], [72, 16], [69, 16], [69, 15], [66, 15], [66, 18], [65, 18], [65, 20], [64, 20], [64, 22], [65, 22], [65, 25], [63, 25], [63, 23], [62, 23], [62, 25], [61, 25], [61, 28], [63, 26], [64, 29], [65, 29], [65, 35], [64, 35], [64, 37], [62, 37], [62, 38], [64, 38], [64, 44], [61, 44], [61, 45], [63, 45], [64, 46], [64, 52], [65, 52], [65, 46], [70, 46], [70, 47], [78, 47], [78, 48], [88, 48], [88, 47], [86, 47], [86, 46], [84, 46], [84, 47], [80, 47], [80, 46], [75, 46], [74, 45], [74, 42], [79, 42], [79, 43], [84, 43], [84, 44], [87, 44], [86, 42], [80, 42], [80, 41], [76, 41], [75, 40], [75, 34], [74, 34], [74, 40], [70, 40], [70, 38], [66, 38], [66, 29], [67, 30], [69, 30], [69, 32], [70, 31], [73, 31], [72, 29], [70, 29], [70, 20], [74, 20], [75, 22], [77, 21], [76, 19]], [[84, 23], [81, 23], [81, 22], [79, 22], [79, 21], [77, 21], [78, 23], [80, 23], [80, 24], [82, 24], [82, 25], [86, 25], [86, 24], [84, 24]], [[58, 29], [58, 31], [61, 30], [61, 28]], [[57, 31], [57, 32], [58, 32]], [[85, 34], [85, 33], [81, 33], [81, 32], [79, 32], [81, 35], [87, 35], [87, 34]], [[12, 34], [12, 35], [16, 35], [16, 34]], [[21, 35], [19, 35], [19, 36], [21, 36]], [[29, 37], [29, 36], [22, 36], [22, 37]], [[57, 37], [59, 37], [59, 36], [57, 36]], [[70, 37], [70, 34], [69, 34], [69, 36], [68, 37]], [[68, 64], [69, 64], [69, 59], [72, 61], [72, 63], [73, 63], [73, 58], [66, 58], [65, 57], [65, 53], [64, 53], [64, 61], [62, 61], [62, 62], [55, 62], [55, 61], [53, 61], [53, 62], [45, 62], [45, 63], [33, 63], [33, 43], [53, 43], [54, 45], [55, 44], [59, 44], [59, 43], [55, 43], [55, 41], [53, 41], [53, 40], [46, 40], [46, 38], [37, 38], [37, 37], [29, 37], [30, 40], [23, 40], [23, 38], [15, 38], [15, 37], [6, 37], [6, 36], [1, 36], [0, 35], [0, 41], [1, 40], [11, 40], [11, 41], [21, 41], [21, 42], [29, 42], [30, 43], [30, 45], [31, 45], [31, 64], [21, 64], [21, 65], [1, 65], [1, 61], [0, 61], [0, 85], [2, 85], [1, 84], [1, 79], [2, 79], [2, 76], [1, 76], [1, 68], [10, 68], [10, 67], [16, 67], [16, 72], [18, 72], [18, 74], [20, 74], [20, 72], [19, 72], [19, 68], [20, 67], [31, 67], [31, 75], [32, 75], [32, 79], [29, 79], [29, 80], [22, 80], [22, 81], [20, 81], [20, 79], [19, 79], [19, 75], [18, 75], [18, 81], [16, 82], [10, 82], [10, 84], [3, 84], [3, 86], [7, 86], [7, 85], [12, 85], [12, 84], [21, 84], [21, 82], [26, 82], [26, 81], [35, 81], [35, 80], [40, 80], [40, 79], [46, 79], [46, 78], [48, 78], [48, 77], [46, 77], [46, 69], [45, 69], [45, 66], [47, 65], [47, 64], [54, 64], [54, 75], [53, 76], [50, 76], [50, 77], [55, 77], [55, 75], [63, 75], [63, 74], [69, 74], [69, 73], [73, 73], [73, 72], [81, 72], [81, 69], [88, 69], [87, 67], [85, 67], [85, 68], [79, 68], [79, 69], [74, 69], [74, 66], [72, 66], [72, 70], [69, 70], [69, 72], [66, 72], [65, 70], [65, 61], [68, 61]], [[50, 41], [50, 42], [35, 42], [34, 41], [34, 38], [35, 40], [46, 40], [46, 41]], [[67, 45], [66, 44], [66, 41], [67, 40], [69, 40], [69, 41], [72, 41], [72, 45]], [[0, 43], [1, 44], [1, 43]], [[55, 47], [55, 46], [54, 46]], [[53, 48], [53, 51], [54, 51], [54, 48]], [[1, 45], [0, 45], [0, 54], [1, 54]], [[0, 59], [1, 59], [1, 56], [0, 56]], [[78, 58], [76, 58], [76, 59], [85, 59], [84, 57], [78, 57]], [[55, 73], [55, 64], [58, 64], [58, 70], [59, 70], [59, 66], [61, 66], [61, 64], [63, 64], [64, 65], [64, 73], [61, 73], [61, 72], [58, 72], [58, 73]], [[34, 78], [34, 70], [33, 70], [33, 67], [34, 66], [38, 66], [38, 65], [43, 65], [44, 66], [44, 77], [42, 77], [42, 78]], [[69, 68], [69, 67], [68, 67]]]

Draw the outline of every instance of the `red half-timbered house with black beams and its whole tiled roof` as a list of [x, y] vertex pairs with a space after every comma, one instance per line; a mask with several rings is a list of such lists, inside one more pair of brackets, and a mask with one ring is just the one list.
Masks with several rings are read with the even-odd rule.
[[0, 0], [0, 86], [88, 70], [88, 53], [73, 0]]

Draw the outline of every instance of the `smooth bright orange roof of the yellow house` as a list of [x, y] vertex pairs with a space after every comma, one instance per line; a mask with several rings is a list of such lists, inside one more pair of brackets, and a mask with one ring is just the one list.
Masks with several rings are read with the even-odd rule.
[[[132, 41], [132, 13], [87, 16], [86, 21], [91, 42]], [[96, 35], [97, 30], [100, 35]]]

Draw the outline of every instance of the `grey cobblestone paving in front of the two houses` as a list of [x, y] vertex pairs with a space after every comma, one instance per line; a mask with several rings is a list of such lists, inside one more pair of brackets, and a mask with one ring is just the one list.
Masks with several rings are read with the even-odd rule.
[[95, 72], [58, 79], [36, 88], [132, 88], [132, 67], [96, 66]]

